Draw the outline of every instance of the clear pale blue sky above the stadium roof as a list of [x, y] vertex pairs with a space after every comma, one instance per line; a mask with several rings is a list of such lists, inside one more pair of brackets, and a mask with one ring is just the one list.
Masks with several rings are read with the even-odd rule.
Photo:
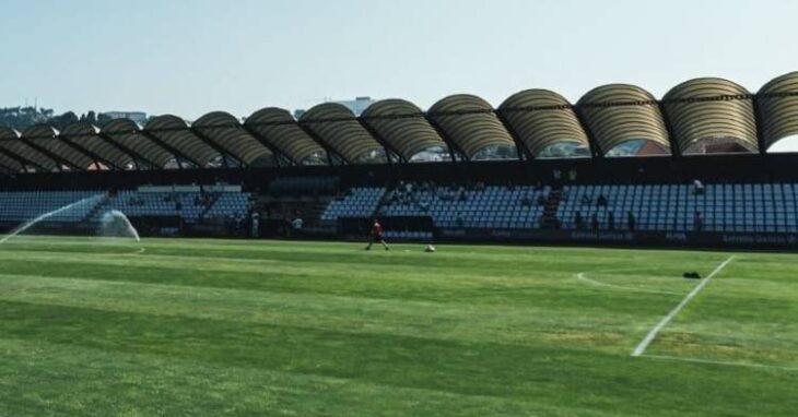
[[0, 106], [196, 119], [612, 82], [661, 96], [706, 75], [755, 91], [798, 70], [796, 16], [790, 0], [2, 0]]

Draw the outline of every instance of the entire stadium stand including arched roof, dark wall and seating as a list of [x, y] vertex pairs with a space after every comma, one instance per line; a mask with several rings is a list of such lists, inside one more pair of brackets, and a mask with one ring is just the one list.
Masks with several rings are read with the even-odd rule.
[[460, 94], [427, 111], [0, 128], [0, 227], [115, 190], [51, 221], [119, 210], [169, 234], [362, 238], [379, 216], [400, 239], [798, 248], [798, 153], [771, 152], [797, 135], [798, 72], [755, 93], [704, 78], [661, 98], [608, 84], [574, 104], [533, 88], [495, 108]]

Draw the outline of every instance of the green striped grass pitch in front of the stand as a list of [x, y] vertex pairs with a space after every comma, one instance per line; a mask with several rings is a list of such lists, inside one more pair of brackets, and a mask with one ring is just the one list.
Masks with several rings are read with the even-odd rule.
[[[798, 255], [0, 245], [0, 416], [794, 416]], [[586, 273], [577, 279], [578, 273]]]

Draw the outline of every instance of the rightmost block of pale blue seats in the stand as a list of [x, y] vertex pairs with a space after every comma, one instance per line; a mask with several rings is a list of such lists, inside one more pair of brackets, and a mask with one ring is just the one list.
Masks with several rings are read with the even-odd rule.
[[[558, 210], [564, 228], [602, 230], [796, 233], [796, 183], [624, 184], [566, 187]], [[603, 196], [606, 204], [599, 204]], [[579, 227], [577, 213], [584, 219]], [[614, 216], [614, 226], [609, 217]], [[635, 227], [632, 227], [635, 228]]]

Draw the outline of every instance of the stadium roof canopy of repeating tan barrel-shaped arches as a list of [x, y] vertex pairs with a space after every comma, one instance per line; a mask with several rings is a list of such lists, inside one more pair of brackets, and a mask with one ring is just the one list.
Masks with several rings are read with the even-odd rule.
[[563, 145], [584, 151], [571, 156], [600, 158], [631, 142], [650, 145], [639, 154], [679, 157], [764, 153], [791, 135], [798, 135], [798, 72], [755, 94], [703, 78], [674, 86], [659, 100], [639, 86], [609, 84], [576, 104], [555, 92], [527, 90], [498, 108], [458, 94], [429, 111], [403, 99], [379, 100], [359, 117], [325, 103], [298, 120], [267, 107], [245, 120], [214, 111], [192, 123], [159, 116], [143, 128], [127, 119], [102, 129], [80, 122], [61, 132], [48, 126], [22, 133], [0, 128], [0, 171], [394, 164], [432, 160], [419, 157], [431, 150], [449, 160], [533, 160]]

